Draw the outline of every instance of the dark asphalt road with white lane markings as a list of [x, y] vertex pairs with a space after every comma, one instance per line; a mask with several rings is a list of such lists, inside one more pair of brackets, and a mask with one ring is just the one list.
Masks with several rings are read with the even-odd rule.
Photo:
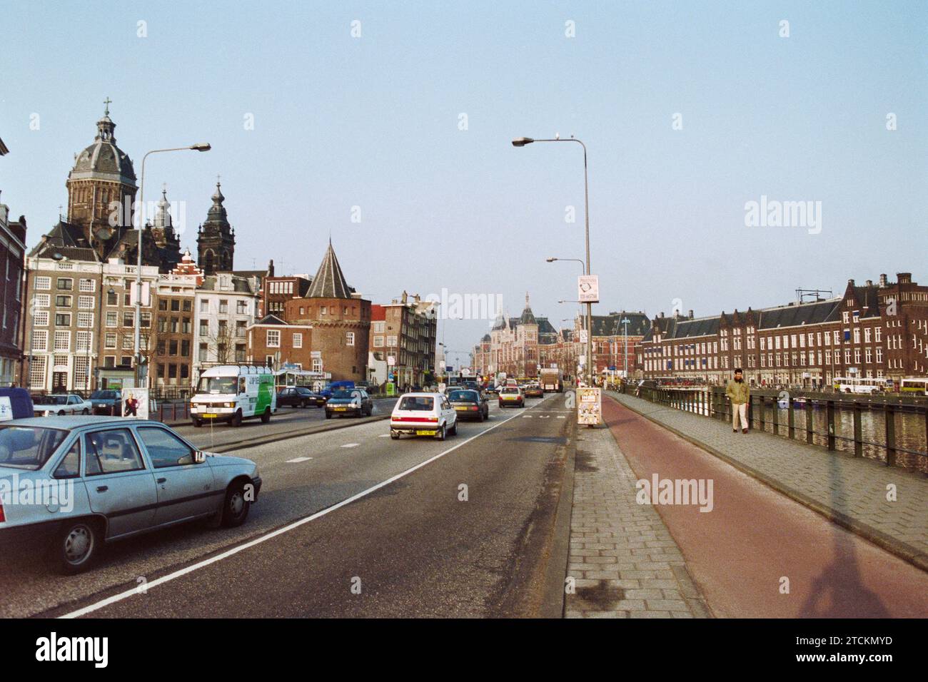
[[444, 443], [375, 421], [249, 448], [244, 526], [116, 543], [75, 577], [0, 558], [0, 615], [537, 615], [571, 420], [557, 396], [491, 417]]

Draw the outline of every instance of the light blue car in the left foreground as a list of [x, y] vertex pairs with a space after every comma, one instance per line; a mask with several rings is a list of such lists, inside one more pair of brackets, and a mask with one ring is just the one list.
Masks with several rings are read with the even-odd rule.
[[250, 459], [205, 453], [158, 422], [107, 417], [0, 425], [0, 483], [22, 490], [27, 481], [48, 495], [0, 501], [0, 547], [25, 552], [39, 540], [62, 573], [149, 531], [208, 518], [238, 526], [261, 490]]

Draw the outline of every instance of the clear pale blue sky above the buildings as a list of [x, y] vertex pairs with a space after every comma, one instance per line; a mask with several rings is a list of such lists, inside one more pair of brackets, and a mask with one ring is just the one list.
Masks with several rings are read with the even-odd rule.
[[[331, 238], [373, 302], [444, 290], [516, 316], [528, 293], [560, 328], [580, 264], [546, 258], [584, 257], [582, 148], [510, 140], [575, 135], [595, 315], [924, 283], [926, 19], [923, 2], [0, 0], [0, 201], [36, 243], [109, 97], [136, 174], [148, 149], [212, 144], [146, 165], [191, 251], [220, 175], [237, 269], [313, 275]], [[752, 201], [817, 220], [752, 223]], [[491, 322], [443, 320], [439, 340], [461, 354]]]

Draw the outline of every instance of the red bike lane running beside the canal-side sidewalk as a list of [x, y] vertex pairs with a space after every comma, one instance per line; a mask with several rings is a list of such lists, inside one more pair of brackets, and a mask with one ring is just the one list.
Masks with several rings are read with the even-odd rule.
[[[928, 616], [928, 573], [624, 405], [604, 398], [602, 407], [638, 479], [651, 482], [656, 473], [659, 480], [712, 482], [711, 511], [699, 504], [656, 508], [715, 616]], [[753, 437], [744, 435], [746, 447]]]

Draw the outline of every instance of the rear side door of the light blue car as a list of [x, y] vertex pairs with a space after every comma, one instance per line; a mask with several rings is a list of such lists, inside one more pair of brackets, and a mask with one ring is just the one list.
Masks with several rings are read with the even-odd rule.
[[154, 523], [155, 477], [131, 429], [84, 433], [84, 486], [91, 510], [109, 521], [108, 538], [137, 533]]

